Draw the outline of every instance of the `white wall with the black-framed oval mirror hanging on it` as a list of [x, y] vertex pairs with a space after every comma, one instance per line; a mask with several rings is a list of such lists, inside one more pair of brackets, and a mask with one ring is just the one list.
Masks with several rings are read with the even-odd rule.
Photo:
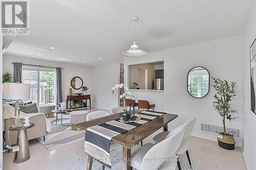
[[[214, 88], [210, 81], [209, 93], [201, 99], [187, 92], [187, 73], [195, 66], [208, 69], [210, 77], [220, 77], [237, 82], [237, 96], [232, 106], [238, 110], [239, 119], [227, 122], [227, 127], [242, 128], [242, 36], [169, 48], [164, 51], [164, 111], [178, 114], [171, 129], [188, 118], [196, 117], [192, 135], [217, 140], [216, 135], [200, 131], [200, 124], [222, 126], [220, 115], [212, 107]], [[238, 141], [241, 145], [241, 140]]]

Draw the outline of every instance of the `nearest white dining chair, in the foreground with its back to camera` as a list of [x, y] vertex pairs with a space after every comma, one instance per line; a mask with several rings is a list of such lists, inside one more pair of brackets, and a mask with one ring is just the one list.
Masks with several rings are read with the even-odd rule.
[[179, 127], [157, 144], [147, 143], [132, 153], [131, 165], [138, 170], [174, 170], [177, 167], [176, 151], [180, 147], [185, 128]]

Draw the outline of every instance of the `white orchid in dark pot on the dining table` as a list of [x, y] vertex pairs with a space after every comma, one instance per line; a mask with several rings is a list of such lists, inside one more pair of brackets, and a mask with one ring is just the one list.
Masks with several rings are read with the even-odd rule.
[[[132, 96], [133, 98], [134, 98], [134, 96], [133, 96], [133, 94], [129, 91], [129, 88], [127, 87], [127, 86], [124, 86], [123, 85], [123, 83], [121, 83], [121, 84], [116, 84], [114, 87], [112, 87], [112, 93], [114, 94], [114, 91], [115, 90], [117, 90], [117, 89], [119, 89], [119, 88], [123, 88], [124, 89], [124, 93], [122, 93], [120, 96], [119, 96], [119, 98], [120, 99], [122, 99], [122, 98], [124, 98], [124, 106], [126, 106], [126, 96], [127, 95], [130, 95], [130, 96]], [[123, 120], [124, 119], [127, 119], [128, 118], [128, 120], [131, 118], [131, 115], [130, 115], [130, 112], [128, 112], [126, 109], [123, 109]], [[127, 120], [127, 121], [128, 121]], [[125, 121], [125, 120], [124, 120]], [[125, 122], [127, 122], [127, 121], [125, 121]]]

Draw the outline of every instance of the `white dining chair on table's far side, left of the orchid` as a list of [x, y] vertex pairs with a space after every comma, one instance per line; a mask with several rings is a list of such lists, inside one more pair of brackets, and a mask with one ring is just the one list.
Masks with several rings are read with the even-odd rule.
[[[111, 115], [111, 113], [109, 113], [107, 111], [103, 111], [103, 110], [93, 111], [93, 112], [90, 112], [87, 114], [86, 119], [87, 119], [87, 121], [89, 121], [89, 120], [93, 120], [93, 119], [97, 119], [97, 118], [101, 118], [101, 117], [105, 117], [105, 116], [109, 116], [109, 115]], [[118, 144], [111, 141], [110, 150], [113, 150], [117, 147], [118, 147]], [[104, 170], [104, 169], [105, 169], [105, 166], [102, 164], [102, 170]]]

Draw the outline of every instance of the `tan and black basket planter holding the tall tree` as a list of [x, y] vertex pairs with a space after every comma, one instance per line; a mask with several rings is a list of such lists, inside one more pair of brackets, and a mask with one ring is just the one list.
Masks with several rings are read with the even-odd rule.
[[226, 150], [233, 150], [234, 149], [234, 144], [236, 144], [236, 142], [234, 141], [234, 136], [233, 134], [227, 134], [224, 135], [224, 132], [220, 133], [221, 137], [218, 137], [218, 144], [221, 148], [224, 148]]

